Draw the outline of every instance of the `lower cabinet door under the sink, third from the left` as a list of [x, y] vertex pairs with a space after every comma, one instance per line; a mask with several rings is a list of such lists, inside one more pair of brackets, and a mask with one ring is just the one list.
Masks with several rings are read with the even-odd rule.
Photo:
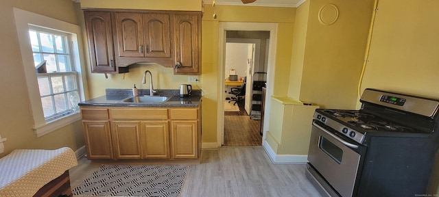
[[169, 159], [168, 121], [141, 122], [141, 149], [144, 159]]

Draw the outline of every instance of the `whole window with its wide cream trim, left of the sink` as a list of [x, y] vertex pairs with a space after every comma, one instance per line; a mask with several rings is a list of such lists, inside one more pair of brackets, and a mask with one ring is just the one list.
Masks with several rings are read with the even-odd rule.
[[34, 131], [40, 137], [80, 120], [85, 73], [80, 26], [14, 8]]

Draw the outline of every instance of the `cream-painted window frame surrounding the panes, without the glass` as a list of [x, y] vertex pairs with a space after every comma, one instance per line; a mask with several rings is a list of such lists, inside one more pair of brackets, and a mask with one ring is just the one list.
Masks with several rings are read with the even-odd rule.
[[[27, 90], [29, 92], [29, 101], [32, 109], [32, 116], [34, 118], [34, 131], [36, 136], [40, 137], [52, 131], [56, 131], [61, 127], [72, 124], [81, 119], [80, 113], [70, 114], [69, 116], [64, 116], [51, 122], [46, 122], [43, 114], [43, 107], [41, 105], [40, 91], [38, 88], [37, 75], [34, 66], [34, 57], [32, 53], [32, 46], [30, 44], [29, 38], [29, 25], [35, 25], [40, 27], [45, 27], [49, 29], [56, 29], [58, 31], [65, 31], [72, 35], [72, 48], [73, 49], [83, 49], [81, 28], [78, 25], [60, 21], [55, 18], [50, 18], [40, 14], [35, 14], [32, 12], [27, 12], [25, 10], [20, 10], [14, 8], [15, 25], [17, 35], [19, 37], [19, 44], [21, 49], [21, 58], [23, 61], [23, 68], [25, 72], [25, 78], [27, 83]], [[84, 57], [82, 53], [78, 50], [73, 50], [72, 55], [74, 57], [73, 62], [75, 62], [75, 70], [78, 73], [78, 89], [80, 90], [81, 101], [84, 101], [84, 80], [85, 68], [84, 68]]]

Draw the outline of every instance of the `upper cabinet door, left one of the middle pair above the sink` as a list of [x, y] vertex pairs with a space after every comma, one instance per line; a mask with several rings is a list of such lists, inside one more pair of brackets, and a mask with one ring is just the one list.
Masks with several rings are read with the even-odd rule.
[[142, 14], [115, 13], [117, 55], [119, 57], [144, 57]]

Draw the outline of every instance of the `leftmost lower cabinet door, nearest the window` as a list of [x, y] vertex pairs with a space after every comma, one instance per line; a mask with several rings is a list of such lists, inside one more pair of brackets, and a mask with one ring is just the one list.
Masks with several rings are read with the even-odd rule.
[[112, 159], [110, 122], [82, 121], [88, 159]]

